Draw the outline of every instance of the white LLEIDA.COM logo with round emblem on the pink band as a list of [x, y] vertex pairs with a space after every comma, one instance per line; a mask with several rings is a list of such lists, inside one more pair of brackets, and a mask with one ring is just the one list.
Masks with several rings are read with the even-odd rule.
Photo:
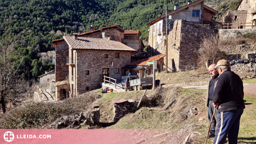
[[[36, 135], [31, 134], [23, 134], [23, 135], [17, 135], [17, 139], [19, 138], [51, 138], [51, 135], [39, 135], [38, 137]], [[7, 131], [4, 133], [4, 140], [7, 142], [11, 142], [14, 140], [14, 134], [11, 131]]]

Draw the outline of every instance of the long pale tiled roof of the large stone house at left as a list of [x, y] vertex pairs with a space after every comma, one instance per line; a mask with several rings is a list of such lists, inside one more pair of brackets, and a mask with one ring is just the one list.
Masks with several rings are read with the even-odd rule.
[[72, 49], [136, 51], [121, 42], [111, 41], [105, 38], [78, 37], [78, 39], [73, 39], [73, 36], [63, 36], [63, 38]]

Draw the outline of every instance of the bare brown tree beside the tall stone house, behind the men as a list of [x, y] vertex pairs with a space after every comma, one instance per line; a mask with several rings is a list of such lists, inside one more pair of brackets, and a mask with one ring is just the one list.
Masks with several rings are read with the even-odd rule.
[[207, 65], [214, 64], [224, 58], [225, 52], [221, 51], [221, 47], [217, 35], [202, 38], [200, 48], [196, 51], [198, 55], [198, 65], [204, 67], [206, 63]]

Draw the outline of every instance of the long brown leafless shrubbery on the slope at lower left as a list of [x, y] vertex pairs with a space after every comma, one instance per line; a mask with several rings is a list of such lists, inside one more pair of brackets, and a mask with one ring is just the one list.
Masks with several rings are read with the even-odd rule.
[[63, 115], [86, 111], [97, 96], [85, 93], [58, 103], [30, 102], [0, 115], [1, 129], [45, 128]]

